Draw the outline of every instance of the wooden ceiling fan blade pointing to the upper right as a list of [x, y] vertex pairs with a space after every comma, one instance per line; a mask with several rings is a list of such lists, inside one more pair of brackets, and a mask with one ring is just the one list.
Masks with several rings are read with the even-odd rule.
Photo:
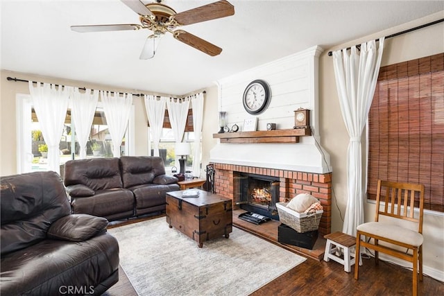
[[226, 0], [217, 1], [204, 6], [179, 12], [174, 15], [174, 19], [180, 25], [189, 25], [200, 23], [201, 21], [210, 21], [211, 19], [219, 19], [234, 15], [234, 6]]

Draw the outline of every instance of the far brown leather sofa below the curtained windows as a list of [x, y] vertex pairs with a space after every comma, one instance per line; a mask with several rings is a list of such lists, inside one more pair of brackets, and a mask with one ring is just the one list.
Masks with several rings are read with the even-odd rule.
[[74, 214], [119, 220], [165, 210], [166, 194], [179, 190], [161, 157], [122, 156], [70, 160], [64, 182]]

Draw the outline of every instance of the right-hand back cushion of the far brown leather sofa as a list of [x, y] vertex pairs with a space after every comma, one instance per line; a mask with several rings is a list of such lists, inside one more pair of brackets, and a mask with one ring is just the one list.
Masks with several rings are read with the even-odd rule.
[[123, 188], [150, 184], [155, 177], [165, 175], [162, 157], [122, 156], [120, 162]]

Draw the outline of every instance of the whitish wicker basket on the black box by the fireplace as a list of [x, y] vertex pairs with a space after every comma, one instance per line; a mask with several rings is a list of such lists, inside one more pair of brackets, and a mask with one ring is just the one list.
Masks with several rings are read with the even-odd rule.
[[318, 229], [324, 211], [316, 213], [298, 213], [287, 207], [287, 202], [277, 202], [279, 220], [297, 232], [311, 232]]

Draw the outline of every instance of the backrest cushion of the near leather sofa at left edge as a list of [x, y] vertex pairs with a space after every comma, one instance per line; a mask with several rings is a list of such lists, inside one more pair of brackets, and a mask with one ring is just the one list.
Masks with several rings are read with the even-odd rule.
[[1, 177], [1, 255], [46, 238], [51, 223], [71, 213], [60, 176], [34, 172]]

